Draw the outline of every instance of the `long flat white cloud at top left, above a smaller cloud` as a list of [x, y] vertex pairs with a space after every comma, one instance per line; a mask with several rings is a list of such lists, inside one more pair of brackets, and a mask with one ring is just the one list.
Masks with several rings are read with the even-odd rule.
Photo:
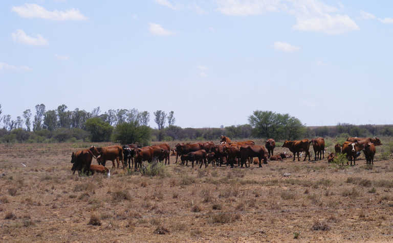
[[66, 11], [48, 11], [37, 4], [24, 4], [18, 7], [12, 7], [12, 11], [23, 18], [43, 18], [51, 20], [86, 20], [88, 19], [79, 12], [78, 9]]

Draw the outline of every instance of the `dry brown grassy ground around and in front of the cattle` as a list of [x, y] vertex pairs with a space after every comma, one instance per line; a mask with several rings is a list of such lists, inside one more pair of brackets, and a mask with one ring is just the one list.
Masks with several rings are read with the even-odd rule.
[[0, 241], [393, 241], [391, 156], [344, 169], [327, 155], [233, 169], [171, 157], [162, 176], [72, 175], [69, 153], [89, 146], [0, 144]]

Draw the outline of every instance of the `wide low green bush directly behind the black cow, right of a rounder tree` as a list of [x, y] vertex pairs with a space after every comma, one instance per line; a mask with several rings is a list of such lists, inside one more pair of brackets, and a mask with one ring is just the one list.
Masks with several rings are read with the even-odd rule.
[[113, 140], [122, 144], [139, 142], [143, 145], [149, 143], [151, 136], [151, 128], [147, 126], [139, 126], [134, 122], [118, 124], [114, 130]]

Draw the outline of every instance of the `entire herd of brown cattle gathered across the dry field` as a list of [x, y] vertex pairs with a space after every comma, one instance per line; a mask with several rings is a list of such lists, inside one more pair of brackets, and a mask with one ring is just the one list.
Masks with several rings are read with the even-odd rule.
[[[282, 144], [283, 148], [288, 148], [293, 153], [293, 160], [295, 160], [297, 154], [297, 160], [299, 161], [299, 153], [305, 153], [303, 161], [310, 158], [310, 145], [313, 145], [315, 160], [324, 159], [325, 141], [322, 137], [315, 139], [302, 139], [302, 140], [285, 140]], [[381, 145], [379, 138], [358, 138], [350, 137], [341, 145], [335, 145], [336, 154], [329, 153], [328, 161], [334, 160], [337, 154], [346, 154], [348, 161], [354, 160], [359, 155], [360, 151], [364, 152], [367, 163], [374, 163], [375, 146]], [[250, 166], [250, 162], [255, 158], [255, 162], [261, 167], [261, 161], [267, 163], [267, 159], [270, 160], [282, 160], [286, 158], [292, 158], [292, 155], [280, 153], [279, 155], [273, 155], [276, 144], [274, 139], [270, 138], [266, 140], [265, 147], [255, 145], [254, 141], [235, 141], [232, 142], [230, 138], [221, 136], [219, 144], [214, 142], [197, 142], [197, 143], [178, 143], [175, 148], [171, 149], [167, 143], [160, 143], [152, 146], [146, 146], [140, 148], [137, 144], [127, 145], [112, 145], [108, 147], [95, 147], [92, 145], [89, 149], [81, 150], [76, 153], [71, 153], [72, 171], [78, 171], [78, 173], [108, 173], [109, 170], [105, 167], [106, 161], [112, 161], [112, 167], [115, 167], [115, 160], [117, 167], [121, 161], [123, 168], [128, 165], [128, 168], [141, 167], [143, 161], [164, 161], [165, 164], [169, 164], [169, 156], [176, 155], [176, 162], [178, 158], [182, 164], [188, 165], [188, 161], [191, 162], [194, 167], [194, 162], [200, 164], [200, 168], [203, 164], [207, 167], [208, 164], [212, 166], [218, 166], [222, 164], [230, 165], [232, 168], [236, 163], [238, 166], [247, 167]], [[92, 160], [95, 158], [98, 165], [92, 165]], [[257, 158], [257, 160], [256, 160]]]

